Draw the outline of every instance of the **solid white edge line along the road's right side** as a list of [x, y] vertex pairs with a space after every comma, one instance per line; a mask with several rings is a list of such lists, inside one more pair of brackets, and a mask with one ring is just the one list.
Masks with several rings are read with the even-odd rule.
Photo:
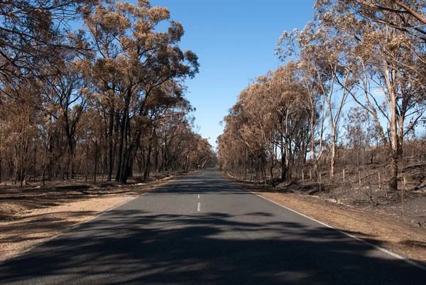
[[[221, 177], [222, 177], [222, 176], [221, 176]], [[226, 179], [226, 178], [225, 178], [225, 179]], [[383, 248], [383, 247], [379, 247], [378, 245], [376, 245], [376, 244], [372, 244], [371, 242], [367, 242], [366, 240], [363, 240], [363, 239], [361, 239], [360, 237], [356, 237], [356, 236], [351, 235], [351, 234], [349, 234], [349, 233], [347, 233], [347, 232], [344, 232], [343, 230], [339, 230], [337, 227], [333, 227], [333, 226], [331, 226], [331, 225], [327, 225], [325, 222], [321, 222], [321, 221], [319, 221], [319, 220], [315, 220], [313, 217], [309, 217], [309, 216], [304, 215], [304, 214], [302, 214], [302, 213], [299, 213], [299, 212], [297, 212], [297, 211], [295, 211], [295, 210], [293, 210], [293, 209], [290, 209], [290, 208], [287, 208], [287, 207], [285, 207], [285, 206], [283, 206], [283, 205], [280, 205], [280, 204], [278, 204], [278, 203], [274, 202], [273, 200], [269, 200], [268, 198], [265, 198], [265, 197], [263, 197], [262, 195], [259, 195], [258, 193], [254, 193], [253, 191], [251, 191], [251, 190], [249, 190], [249, 189], [246, 189], [246, 188], [244, 188], [244, 187], [242, 187], [242, 186], [240, 186], [240, 185], [238, 185], [238, 184], [236, 184], [236, 183], [234, 183], [234, 182], [232, 182], [232, 181], [229, 181], [228, 179], [226, 179], [226, 181], [228, 181], [228, 182], [230, 182], [230, 183], [232, 183], [232, 184], [236, 185], [237, 187], [239, 187], [239, 188], [241, 188], [241, 189], [244, 189], [244, 190], [246, 190], [246, 191], [249, 191], [250, 193], [252, 193], [252, 194], [254, 194], [254, 195], [257, 195], [257, 196], [259, 196], [260, 198], [263, 198], [263, 199], [265, 199], [265, 200], [268, 200], [269, 202], [274, 203], [275, 205], [278, 205], [278, 206], [280, 206], [280, 207], [282, 207], [282, 208], [285, 208], [285, 209], [287, 209], [287, 210], [290, 210], [290, 211], [292, 211], [293, 213], [296, 213], [297, 215], [301, 215], [302, 217], [307, 217], [308, 219], [313, 220], [314, 222], [317, 222], [317, 223], [319, 223], [319, 224], [321, 224], [321, 225], [324, 225], [325, 227], [329, 227], [330, 229], [337, 230], [337, 232], [341, 232], [342, 234], [346, 235], [347, 237], [351, 237], [351, 238], [353, 238], [354, 240], [358, 240], [359, 242], [364, 242], [364, 244], [368, 244], [368, 245], [370, 245], [371, 247], [374, 247], [375, 249], [380, 250], [381, 252], [385, 252], [386, 254], [391, 255], [391, 256], [392, 256], [392, 257], [394, 257], [395, 259], [403, 260], [404, 262], [407, 262], [408, 264], [413, 265], [414, 267], [417, 267], [417, 268], [419, 268], [419, 269], [422, 269], [422, 270], [425, 270], [425, 271], [426, 271], [426, 267], [425, 267], [425, 266], [423, 266], [422, 264], [418, 264], [417, 262], [413, 262], [413, 260], [407, 259], [406, 257], [403, 257], [403, 256], [402, 256], [402, 255], [400, 255], [400, 254], [396, 254], [395, 252], [391, 252], [391, 251], [390, 251], [390, 250], [388, 250], [388, 249], [385, 249], [385, 248]]]

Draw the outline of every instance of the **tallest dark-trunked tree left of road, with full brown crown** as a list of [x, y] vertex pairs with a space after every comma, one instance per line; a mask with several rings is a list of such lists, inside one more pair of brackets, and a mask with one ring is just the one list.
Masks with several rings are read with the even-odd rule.
[[[163, 22], [168, 23], [167, 31], [158, 31], [156, 27]], [[137, 6], [119, 1], [99, 4], [86, 15], [85, 24], [99, 47], [87, 66], [99, 78], [102, 94], [114, 95], [117, 102], [115, 112], [111, 107], [109, 112], [109, 172], [115, 122], [119, 124], [116, 181], [126, 182], [143, 136], [131, 122], [148, 116], [148, 98], [155, 96], [158, 87], [193, 77], [198, 72], [197, 56], [178, 46], [182, 25], [170, 19], [168, 9], [151, 7], [149, 1], [138, 1]]]

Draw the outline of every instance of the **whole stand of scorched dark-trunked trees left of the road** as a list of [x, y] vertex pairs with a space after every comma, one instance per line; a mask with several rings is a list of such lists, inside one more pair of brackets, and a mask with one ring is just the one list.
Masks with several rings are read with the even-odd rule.
[[214, 166], [185, 80], [197, 55], [148, 0], [0, 3], [0, 183], [126, 183]]

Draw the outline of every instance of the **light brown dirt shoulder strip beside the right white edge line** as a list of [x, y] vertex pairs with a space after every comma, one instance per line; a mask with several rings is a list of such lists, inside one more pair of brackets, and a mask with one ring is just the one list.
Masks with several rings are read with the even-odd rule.
[[379, 214], [363, 213], [361, 210], [342, 205], [327, 205], [309, 195], [274, 192], [263, 185], [241, 181], [219, 171], [217, 173], [231, 183], [279, 205], [336, 227], [371, 244], [400, 252], [421, 264], [426, 262], [426, 235], [403, 225], [398, 220]]

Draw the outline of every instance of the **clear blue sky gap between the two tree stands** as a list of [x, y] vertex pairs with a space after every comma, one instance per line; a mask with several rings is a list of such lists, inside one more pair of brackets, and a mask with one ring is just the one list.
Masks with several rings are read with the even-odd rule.
[[199, 133], [216, 146], [223, 131], [219, 122], [239, 92], [281, 64], [275, 43], [283, 31], [312, 20], [314, 0], [151, 0], [151, 5], [170, 9], [185, 29], [181, 48], [200, 58], [200, 73], [186, 82], [187, 99], [197, 108]]

